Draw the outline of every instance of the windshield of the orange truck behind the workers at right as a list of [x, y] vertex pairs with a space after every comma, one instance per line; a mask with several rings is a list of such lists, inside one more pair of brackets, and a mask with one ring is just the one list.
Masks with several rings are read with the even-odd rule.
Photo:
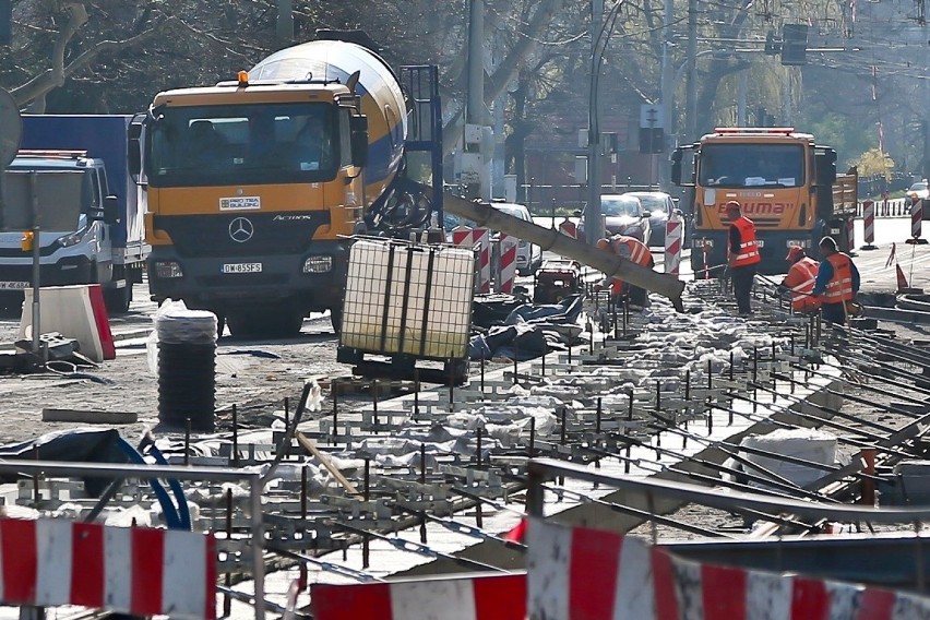
[[698, 182], [707, 188], [797, 188], [804, 184], [801, 144], [705, 144]]

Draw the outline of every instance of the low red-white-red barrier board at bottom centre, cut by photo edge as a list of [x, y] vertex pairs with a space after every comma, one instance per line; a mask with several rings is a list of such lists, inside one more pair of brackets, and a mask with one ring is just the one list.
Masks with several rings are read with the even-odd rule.
[[526, 575], [310, 586], [315, 620], [525, 620]]

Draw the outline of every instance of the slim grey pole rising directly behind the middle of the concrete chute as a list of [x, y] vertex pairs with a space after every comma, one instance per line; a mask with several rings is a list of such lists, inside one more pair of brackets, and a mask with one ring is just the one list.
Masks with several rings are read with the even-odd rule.
[[[607, 41], [599, 36], [604, 26], [604, 0], [591, 0], [591, 88], [587, 105], [587, 207], [584, 210], [585, 241], [594, 245], [604, 236], [600, 216], [600, 126], [598, 122], [598, 73], [600, 53]], [[599, 44], [599, 45], [598, 45]]]

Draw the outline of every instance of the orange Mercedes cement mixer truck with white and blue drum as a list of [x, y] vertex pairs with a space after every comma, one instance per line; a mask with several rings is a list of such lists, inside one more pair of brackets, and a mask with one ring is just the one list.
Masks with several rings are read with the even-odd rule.
[[[158, 93], [130, 138], [153, 299], [211, 310], [235, 335], [294, 335], [323, 310], [338, 327], [348, 238], [422, 223], [400, 179], [410, 150], [401, 84], [416, 91], [420, 71], [437, 72], [409, 69], [398, 78], [358, 43], [320, 39], [235, 81]], [[416, 116], [438, 123], [438, 86], [427, 91]], [[441, 162], [440, 133], [425, 129], [436, 141], [419, 148]]]

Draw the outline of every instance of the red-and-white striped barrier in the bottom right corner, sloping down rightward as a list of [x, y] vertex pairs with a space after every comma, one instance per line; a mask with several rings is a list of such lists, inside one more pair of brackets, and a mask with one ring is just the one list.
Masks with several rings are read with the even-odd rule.
[[748, 620], [930, 617], [930, 598], [683, 560], [612, 532], [532, 521], [530, 618]]

